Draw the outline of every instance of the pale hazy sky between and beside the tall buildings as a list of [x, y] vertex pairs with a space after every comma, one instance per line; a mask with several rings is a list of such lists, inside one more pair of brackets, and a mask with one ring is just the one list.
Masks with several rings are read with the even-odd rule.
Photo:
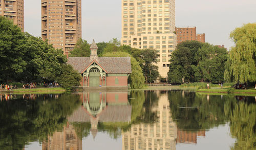
[[[82, 38], [89, 42], [120, 39], [121, 1], [82, 0]], [[176, 1], [176, 26], [196, 26], [210, 44], [233, 46], [229, 33], [247, 23], [256, 23], [255, 0]], [[41, 36], [40, 0], [25, 0], [25, 31]]]

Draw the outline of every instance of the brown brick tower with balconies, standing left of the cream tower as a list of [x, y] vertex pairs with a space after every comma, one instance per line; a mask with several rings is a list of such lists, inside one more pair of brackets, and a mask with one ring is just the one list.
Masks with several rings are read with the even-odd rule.
[[81, 0], [41, 0], [42, 39], [65, 53], [81, 38]]

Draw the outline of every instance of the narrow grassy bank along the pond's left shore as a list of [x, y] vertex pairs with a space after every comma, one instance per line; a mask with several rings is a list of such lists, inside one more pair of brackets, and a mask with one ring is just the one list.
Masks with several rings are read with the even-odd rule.
[[35, 88], [35, 89], [14, 89], [9, 91], [0, 91], [0, 93], [12, 94], [59, 94], [66, 92], [63, 88]]

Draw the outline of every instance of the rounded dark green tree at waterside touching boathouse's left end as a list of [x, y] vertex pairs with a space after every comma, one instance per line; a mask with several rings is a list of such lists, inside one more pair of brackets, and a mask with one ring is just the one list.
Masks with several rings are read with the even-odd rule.
[[71, 65], [65, 64], [61, 66], [61, 74], [57, 80], [62, 88], [71, 91], [74, 87], [80, 85], [81, 75]]

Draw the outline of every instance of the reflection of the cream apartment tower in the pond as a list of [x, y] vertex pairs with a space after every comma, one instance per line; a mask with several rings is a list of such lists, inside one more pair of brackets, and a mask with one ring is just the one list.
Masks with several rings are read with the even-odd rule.
[[176, 149], [177, 126], [170, 113], [167, 92], [158, 91], [158, 105], [154, 107], [156, 123], [139, 123], [122, 133], [122, 149]]

